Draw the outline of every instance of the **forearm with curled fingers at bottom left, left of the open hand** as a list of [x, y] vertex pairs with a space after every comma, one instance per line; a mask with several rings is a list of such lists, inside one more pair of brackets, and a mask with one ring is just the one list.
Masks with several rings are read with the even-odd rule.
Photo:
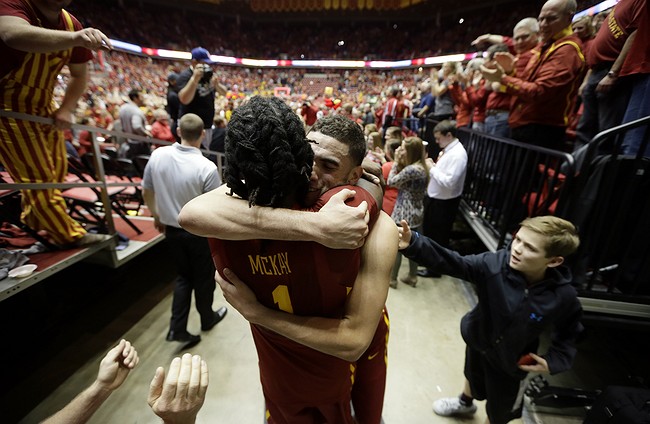
[[82, 424], [87, 422], [110, 394], [124, 383], [129, 371], [138, 364], [138, 361], [138, 352], [130, 342], [122, 339], [102, 359], [95, 382], [43, 423]]

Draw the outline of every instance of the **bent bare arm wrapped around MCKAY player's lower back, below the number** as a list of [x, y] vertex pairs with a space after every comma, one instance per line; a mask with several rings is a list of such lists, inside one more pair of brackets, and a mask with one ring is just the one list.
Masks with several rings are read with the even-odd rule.
[[234, 274], [225, 274], [232, 284], [218, 273], [216, 279], [226, 300], [251, 323], [320, 352], [356, 361], [372, 341], [386, 303], [397, 238], [397, 227], [382, 212], [361, 249], [361, 268], [342, 319], [301, 317], [267, 308]]

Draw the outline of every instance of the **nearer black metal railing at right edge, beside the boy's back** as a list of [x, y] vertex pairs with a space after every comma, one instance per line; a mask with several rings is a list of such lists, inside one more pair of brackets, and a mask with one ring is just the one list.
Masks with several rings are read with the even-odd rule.
[[[638, 153], [620, 155], [627, 132], [639, 127], [645, 136]], [[615, 308], [650, 317], [647, 308], [628, 307], [650, 305], [650, 158], [643, 156], [649, 142], [650, 116], [596, 135], [564, 213], [581, 233], [575, 266], [580, 293], [604, 313]]]

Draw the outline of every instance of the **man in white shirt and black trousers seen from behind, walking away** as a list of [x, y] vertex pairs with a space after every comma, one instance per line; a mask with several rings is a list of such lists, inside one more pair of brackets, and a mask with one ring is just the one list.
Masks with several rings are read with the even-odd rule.
[[192, 292], [201, 316], [202, 331], [211, 330], [228, 311], [225, 306], [212, 310], [216, 283], [208, 241], [178, 224], [178, 214], [187, 202], [221, 185], [217, 166], [199, 150], [205, 137], [203, 125], [198, 115], [183, 115], [178, 123], [181, 143], [154, 150], [142, 178], [144, 201], [154, 225], [165, 233], [178, 268], [167, 333], [169, 342], [196, 344], [201, 341], [201, 336], [187, 331]]

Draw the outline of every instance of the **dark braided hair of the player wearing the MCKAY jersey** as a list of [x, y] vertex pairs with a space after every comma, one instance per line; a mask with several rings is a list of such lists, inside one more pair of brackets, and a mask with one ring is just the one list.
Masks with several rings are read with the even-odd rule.
[[302, 121], [277, 97], [255, 96], [235, 109], [225, 147], [230, 194], [249, 206], [288, 207], [306, 195], [314, 153]]

